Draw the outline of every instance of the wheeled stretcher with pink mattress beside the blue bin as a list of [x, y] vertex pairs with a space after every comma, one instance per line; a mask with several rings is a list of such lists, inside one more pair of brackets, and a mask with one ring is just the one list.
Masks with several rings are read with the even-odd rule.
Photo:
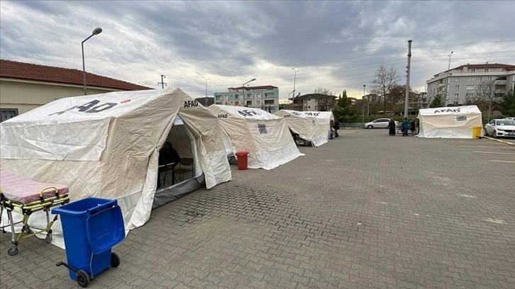
[[[70, 201], [68, 187], [51, 183], [38, 183], [23, 176], [13, 173], [0, 173], [0, 225], [1, 216], [6, 210], [9, 224], [1, 227], [5, 233], [5, 227], [11, 226], [12, 246], [7, 254], [18, 254], [18, 242], [20, 239], [33, 237], [36, 234], [46, 233], [45, 241], [52, 242], [52, 225], [57, 220], [57, 215], [50, 221], [50, 208], [57, 205], [65, 205]], [[46, 213], [47, 225], [44, 229], [31, 228], [28, 219], [34, 212]], [[23, 219], [14, 222], [13, 212], [23, 215]], [[21, 232], [16, 236], [14, 225], [21, 224]], [[35, 229], [33, 231], [32, 229]]]

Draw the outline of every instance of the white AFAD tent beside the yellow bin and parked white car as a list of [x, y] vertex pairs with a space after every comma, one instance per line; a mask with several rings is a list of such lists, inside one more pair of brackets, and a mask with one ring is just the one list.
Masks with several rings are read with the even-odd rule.
[[472, 138], [472, 128], [482, 126], [477, 106], [423, 108], [419, 111], [419, 137]]

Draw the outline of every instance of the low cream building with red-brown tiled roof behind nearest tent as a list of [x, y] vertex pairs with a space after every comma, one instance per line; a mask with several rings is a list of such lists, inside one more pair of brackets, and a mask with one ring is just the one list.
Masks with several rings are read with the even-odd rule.
[[[87, 72], [87, 94], [150, 89]], [[59, 98], [84, 95], [82, 70], [0, 60], [0, 121]]]

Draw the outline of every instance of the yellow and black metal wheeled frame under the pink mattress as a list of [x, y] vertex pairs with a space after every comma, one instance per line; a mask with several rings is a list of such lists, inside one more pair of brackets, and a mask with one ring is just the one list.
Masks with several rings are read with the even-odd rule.
[[[55, 195], [50, 198], [44, 198], [43, 192], [49, 189], [53, 189]], [[5, 227], [11, 226], [11, 243], [12, 246], [7, 251], [9, 256], [14, 256], [18, 254], [18, 242], [21, 239], [26, 239], [29, 237], [33, 237], [37, 234], [47, 233], [45, 237], [45, 241], [50, 244], [52, 242], [52, 225], [57, 220], [58, 215], [50, 221], [50, 208], [56, 207], [57, 205], [65, 205], [70, 202], [70, 195], [68, 193], [59, 194], [58, 189], [55, 186], [47, 186], [39, 192], [39, 200], [35, 200], [31, 203], [19, 203], [13, 200], [9, 200], [4, 196], [4, 192], [0, 188], [0, 224], [1, 224], [1, 216], [3, 211], [6, 210], [7, 217], [9, 218], [9, 225], [4, 225], [1, 227], [2, 232], [6, 234]], [[33, 212], [45, 211], [47, 218], [47, 225], [44, 229], [41, 228], [33, 228], [36, 229], [35, 232], [32, 231], [31, 226], [28, 225], [28, 219], [31, 217]], [[14, 222], [13, 220], [13, 212], [23, 215], [23, 219], [19, 222]], [[22, 224], [21, 232], [18, 233], [16, 237], [16, 232], [14, 231], [14, 225]]]

